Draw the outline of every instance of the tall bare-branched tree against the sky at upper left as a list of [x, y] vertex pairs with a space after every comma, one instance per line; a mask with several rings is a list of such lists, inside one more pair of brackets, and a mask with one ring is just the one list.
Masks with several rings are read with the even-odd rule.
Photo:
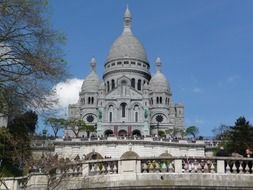
[[50, 107], [51, 87], [65, 74], [63, 35], [53, 30], [46, 0], [0, 0], [0, 102], [6, 114]]

